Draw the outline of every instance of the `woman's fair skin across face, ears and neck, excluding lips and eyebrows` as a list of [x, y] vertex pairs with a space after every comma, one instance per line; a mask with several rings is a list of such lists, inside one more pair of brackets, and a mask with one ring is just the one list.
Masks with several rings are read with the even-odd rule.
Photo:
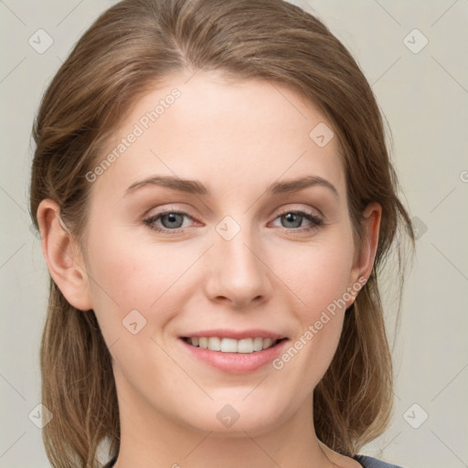
[[[187, 352], [181, 336], [259, 328], [292, 346], [369, 276], [381, 208], [367, 207], [358, 254], [337, 138], [319, 147], [309, 137], [327, 122], [321, 112], [268, 81], [188, 77], [167, 78], [136, 101], [115, 132], [108, 152], [157, 101], [181, 91], [90, 183], [84, 246], [59, 224], [54, 201], [37, 212], [51, 276], [69, 303], [94, 311], [110, 348], [122, 430], [116, 466], [359, 467], [318, 441], [312, 399], [353, 298], [281, 369], [270, 362], [244, 374], [221, 370]], [[210, 195], [155, 185], [127, 191], [155, 175], [197, 180]], [[303, 176], [322, 177], [336, 195], [324, 185], [267, 193]], [[158, 218], [153, 226], [165, 231], [150, 229], [144, 219], [163, 207], [188, 216]], [[307, 218], [282, 216], [297, 211], [323, 224], [307, 230], [314, 226]], [[227, 216], [240, 228], [229, 240], [216, 229]], [[136, 334], [122, 325], [133, 310], [146, 320]], [[230, 427], [217, 417], [225, 405], [239, 414]]]

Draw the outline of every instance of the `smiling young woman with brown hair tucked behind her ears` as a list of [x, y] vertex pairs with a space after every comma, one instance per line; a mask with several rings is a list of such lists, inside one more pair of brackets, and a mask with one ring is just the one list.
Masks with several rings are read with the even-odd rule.
[[414, 237], [373, 93], [319, 20], [124, 0], [34, 137], [54, 467], [105, 443], [113, 468], [393, 466], [358, 452], [391, 409], [378, 271]]

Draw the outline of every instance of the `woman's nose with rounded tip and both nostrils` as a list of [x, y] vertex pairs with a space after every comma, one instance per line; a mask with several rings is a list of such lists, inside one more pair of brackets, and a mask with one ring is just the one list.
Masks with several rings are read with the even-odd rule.
[[215, 232], [207, 258], [205, 291], [211, 301], [243, 309], [266, 301], [273, 291], [272, 272], [258, 239], [240, 229], [233, 239]]

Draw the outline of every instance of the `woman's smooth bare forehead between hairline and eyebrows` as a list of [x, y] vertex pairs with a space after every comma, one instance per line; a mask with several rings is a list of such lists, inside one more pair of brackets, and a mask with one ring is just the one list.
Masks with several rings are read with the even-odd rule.
[[153, 175], [239, 196], [239, 184], [250, 193], [297, 176], [345, 184], [337, 138], [313, 102], [278, 83], [214, 72], [173, 75], [149, 90], [112, 134], [106, 158], [112, 164], [93, 190], [122, 194]]

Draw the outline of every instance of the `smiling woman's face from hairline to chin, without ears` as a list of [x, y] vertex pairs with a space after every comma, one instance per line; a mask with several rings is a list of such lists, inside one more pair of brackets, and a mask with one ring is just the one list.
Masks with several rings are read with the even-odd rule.
[[87, 294], [122, 418], [261, 433], [312, 408], [361, 285], [345, 173], [293, 90], [186, 80], [135, 102], [88, 175]]

